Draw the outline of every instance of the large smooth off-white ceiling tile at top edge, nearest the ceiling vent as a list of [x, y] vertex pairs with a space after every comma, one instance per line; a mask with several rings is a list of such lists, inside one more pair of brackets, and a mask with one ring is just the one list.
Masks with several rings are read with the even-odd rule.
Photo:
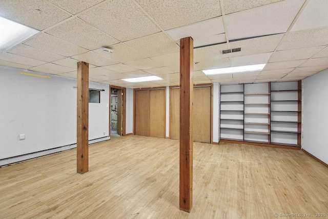
[[229, 40], [285, 33], [305, 0], [288, 0], [226, 16]]

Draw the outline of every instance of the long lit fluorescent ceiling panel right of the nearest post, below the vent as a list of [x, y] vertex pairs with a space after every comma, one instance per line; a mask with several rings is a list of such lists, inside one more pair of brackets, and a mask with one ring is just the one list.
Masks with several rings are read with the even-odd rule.
[[217, 68], [203, 70], [204, 74], [228, 74], [228, 73], [241, 73], [241, 72], [252, 72], [252, 71], [261, 71], [264, 68], [265, 64], [258, 65], [249, 65], [249, 66], [237, 66], [229, 68]]

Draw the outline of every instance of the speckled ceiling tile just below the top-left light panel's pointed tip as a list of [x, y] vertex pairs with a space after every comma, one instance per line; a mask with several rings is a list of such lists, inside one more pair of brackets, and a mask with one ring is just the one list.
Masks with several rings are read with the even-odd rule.
[[47, 33], [39, 34], [32, 39], [29, 39], [29, 41], [26, 41], [24, 44], [66, 57], [88, 51], [82, 47], [70, 44]]

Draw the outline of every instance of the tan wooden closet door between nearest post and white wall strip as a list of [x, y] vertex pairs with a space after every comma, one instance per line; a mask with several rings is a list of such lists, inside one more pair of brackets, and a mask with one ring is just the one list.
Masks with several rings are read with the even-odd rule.
[[211, 87], [194, 88], [194, 142], [211, 143]]

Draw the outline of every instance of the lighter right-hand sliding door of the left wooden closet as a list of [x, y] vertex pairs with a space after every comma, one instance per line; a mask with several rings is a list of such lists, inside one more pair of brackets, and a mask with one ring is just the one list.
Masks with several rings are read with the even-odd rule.
[[150, 91], [150, 136], [165, 137], [166, 101], [165, 90]]

